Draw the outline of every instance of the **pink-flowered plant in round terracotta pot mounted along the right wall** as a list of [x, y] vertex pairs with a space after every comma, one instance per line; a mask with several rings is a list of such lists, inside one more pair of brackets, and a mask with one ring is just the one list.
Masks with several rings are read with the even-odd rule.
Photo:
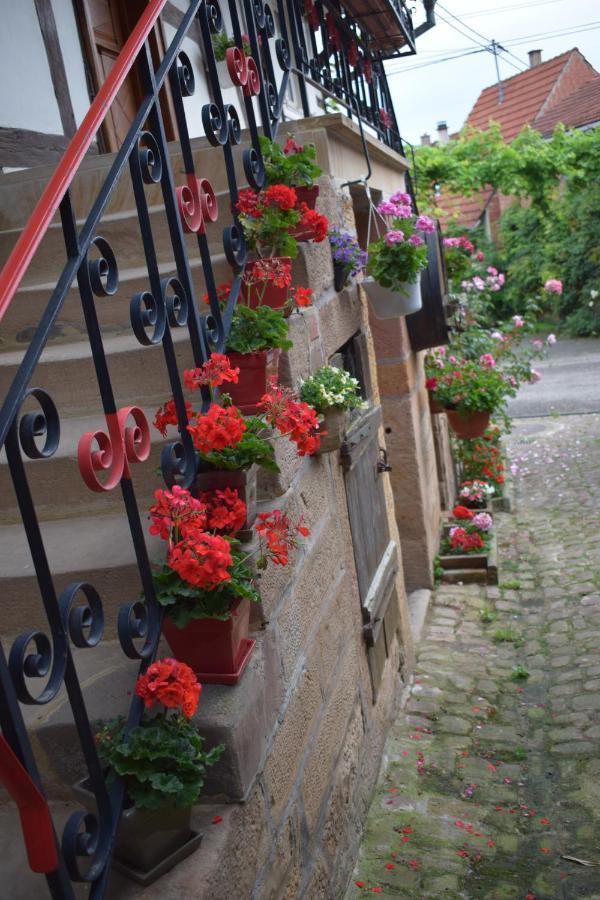
[[452, 430], [459, 438], [484, 434], [494, 411], [514, 396], [516, 386], [494, 358], [484, 354], [479, 360], [458, 360], [448, 356], [434, 389], [434, 398], [446, 410]]

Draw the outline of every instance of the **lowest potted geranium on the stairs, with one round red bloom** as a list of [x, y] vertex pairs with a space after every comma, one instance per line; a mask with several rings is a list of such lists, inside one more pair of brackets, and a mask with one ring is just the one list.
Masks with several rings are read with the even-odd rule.
[[[175, 659], [152, 663], [136, 683], [145, 711], [139, 725], [116, 719], [100, 723], [96, 741], [110, 785], [122, 778], [125, 804], [115, 843], [115, 863], [142, 884], [150, 884], [200, 843], [190, 827], [206, 769], [223, 745], [209, 751], [192, 722], [202, 688], [194, 672]], [[157, 709], [154, 709], [157, 707]], [[150, 715], [150, 711], [155, 714]], [[89, 781], [74, 788], [95, 812]]]

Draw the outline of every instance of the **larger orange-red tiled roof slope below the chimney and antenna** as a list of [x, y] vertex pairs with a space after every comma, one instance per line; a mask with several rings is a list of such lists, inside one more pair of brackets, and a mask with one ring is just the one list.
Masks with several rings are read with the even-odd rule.
[[[504, 140], [511, 141], [525, 125], [532, 124], [541, 112], [542, 106], [548, 100], [550, 92], [573, 53], [579, 51], [569, 50], [561, 53], [560, 56], [540, 63], [533, 69], [527, 69], [512, 78], [505, 79], [502, 82], [504, 99], [501, 103], [497, 85], [485, 88], [469, 113], [467, 125], [487, 128], [490, 121], [498, 122]], [[591, 72], [594, 70], [591, 69]]]

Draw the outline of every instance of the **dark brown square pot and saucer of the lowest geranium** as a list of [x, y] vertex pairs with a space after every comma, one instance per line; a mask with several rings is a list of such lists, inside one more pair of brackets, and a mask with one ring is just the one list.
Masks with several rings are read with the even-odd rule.
[[[96, 800], [88, 779], [74, 785], [73, 793], [86, 809], [96, 812]], [[115, 868], [140, 884], [156, 881], [199, 846], [202, 835], [192, 831], [191, 814], [191, 806], [126, 807], [117, 829]]]

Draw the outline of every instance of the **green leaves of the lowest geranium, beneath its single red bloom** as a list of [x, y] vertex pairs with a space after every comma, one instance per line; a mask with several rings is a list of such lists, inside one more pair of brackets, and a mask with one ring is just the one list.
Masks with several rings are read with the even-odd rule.
[[208, 766], [217, 762], [222, 744], [203, 751], [203, 740], [185, 716], [143, 720], [125, 738], [124, 722], [107, 722], [97, 734], [100, 757], [125, 780], [127, 796], [137, 807], [192, 806], [198, 799]]

